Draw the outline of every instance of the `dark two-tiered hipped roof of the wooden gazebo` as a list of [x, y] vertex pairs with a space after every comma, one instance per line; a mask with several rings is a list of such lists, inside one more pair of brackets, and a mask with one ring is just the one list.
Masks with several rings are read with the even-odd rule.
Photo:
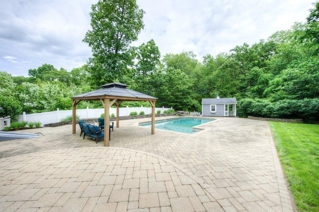
[[123, 101], [156, 101], [158, 98], [152, 97], [131, 89], [122, 83], [109, 83], [100, 86], [101, 89], [71, 97], [72, 100], [99, 100], [118, 99]]

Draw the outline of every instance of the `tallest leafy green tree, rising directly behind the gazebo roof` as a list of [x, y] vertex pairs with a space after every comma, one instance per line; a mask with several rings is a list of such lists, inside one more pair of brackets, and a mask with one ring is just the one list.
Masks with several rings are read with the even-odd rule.
[[[88, 65], [95, 86], [123, 81], [133, 65], [129, 48], [143, 29], [143, 9], [136, 0], [99, 0], [92, 5], [91, 26], [83, 41], [92, 48]], [[126, 83], [123, 81], [123, 83]]]

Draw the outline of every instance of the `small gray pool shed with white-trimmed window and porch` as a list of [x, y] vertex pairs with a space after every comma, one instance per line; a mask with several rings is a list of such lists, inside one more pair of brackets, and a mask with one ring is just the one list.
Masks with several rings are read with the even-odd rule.
[[236, 116], [236, 98], [202, 99], [201, 113], [203, 116]]

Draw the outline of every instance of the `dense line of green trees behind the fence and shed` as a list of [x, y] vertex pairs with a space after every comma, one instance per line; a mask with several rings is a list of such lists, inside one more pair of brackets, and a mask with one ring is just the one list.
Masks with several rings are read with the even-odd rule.
[[[131, 46], [144, 27], [143, 14], [136, 0], [93, 4], [92, 29], [83, 39], [93, 57], [71, 72], [50, 64], [30, 69], [29, 77], [0, 72], [0, 106], [6, 108], [0, 116], [70, 109], [71, 96], [121, 82], [159, 98], [157, 106], [176, 110], [200, 111], [202, 98], [218, 95], [237, 98], [239, 116], [318, 123], [319, 1], [306, 22], [275, 32], [267, 40], [235, 46], [228, 53], [206, 54], [202, 62], [193, 52], [161, 56], [153, 39]], [[83, 101], [79, 108], [86, 106], [102, 105]]]

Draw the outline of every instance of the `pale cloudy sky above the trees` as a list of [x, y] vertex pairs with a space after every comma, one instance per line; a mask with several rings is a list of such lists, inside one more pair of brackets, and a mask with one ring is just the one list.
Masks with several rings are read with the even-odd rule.
[[[0, 71], [28, 76], [42, 64], [71, 71], [92, 57], [82, 42], [97, 0], [0, 0]], [[201, 61], [237, 45], [267, 40], [305, 22], [315, 0], [137, 0], [144, 29], [132, 46], [154, 39], [161, 55], [192, 51]]]

